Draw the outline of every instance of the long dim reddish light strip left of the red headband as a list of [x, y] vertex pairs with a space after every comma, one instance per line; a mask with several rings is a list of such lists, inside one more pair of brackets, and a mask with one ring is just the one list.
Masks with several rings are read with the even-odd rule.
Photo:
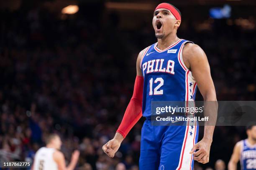
[[105, 6], [117, 10], [154, 10], [154, 5], [148, 3], [106, 2]]

